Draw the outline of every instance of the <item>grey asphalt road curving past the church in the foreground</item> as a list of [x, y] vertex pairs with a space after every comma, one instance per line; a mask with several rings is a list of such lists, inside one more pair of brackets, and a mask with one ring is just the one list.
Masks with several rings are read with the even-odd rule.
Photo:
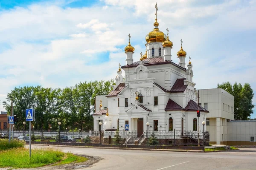
[[103, 158], [84, 170], [256, 170], [256, 148], [218, 153], [58, 148]]

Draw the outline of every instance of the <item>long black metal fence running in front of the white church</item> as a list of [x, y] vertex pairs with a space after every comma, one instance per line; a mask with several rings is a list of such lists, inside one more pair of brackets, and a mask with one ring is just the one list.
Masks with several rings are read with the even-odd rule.
[[[10, 134], [12, 136], [12, 133]], [[23, 136], [29, 136], [27, 130], [14, 130], [13, 138], [23, 140]], [[9, 130], [0, 130], [0, 138], [9, 138]], [[209, 132], [199, 134], [195, 131], [145, 131], [138, 134], [137, 131], [52, 131], [31, 130], [31, 140], [36, 142], [76, 142], [97, 144], [127, 144], [127, 145], [209, 145]], [[28, 138], [29, 139], [29, 138]]]

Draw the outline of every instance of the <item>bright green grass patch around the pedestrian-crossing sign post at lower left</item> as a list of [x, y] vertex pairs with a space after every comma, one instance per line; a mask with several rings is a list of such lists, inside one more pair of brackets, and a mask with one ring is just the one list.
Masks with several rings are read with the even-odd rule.
[[29, 149], [13, 148], [0, 152], [0, 167], [13, 168], [35, 168], [42, 167], [61, 161], [65, 153], [53, 149], [35, 149], [31, 150], [31, 159], [29, 158]]

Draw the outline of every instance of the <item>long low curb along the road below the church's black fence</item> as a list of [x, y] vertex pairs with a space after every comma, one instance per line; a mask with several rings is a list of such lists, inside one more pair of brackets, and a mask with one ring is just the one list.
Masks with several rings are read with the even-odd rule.
[[[29, 144], [26, 144], [29, 145]], [[169, 151], [169, 152], [192, 152], [203, 153], [203, 150], [173, 150], [173, 149], [144, 149], [144, 148], [122, 148], [122, 147], [88, 147], [88, 146], [67, 146], [54, 144], [31, 144], [37, 146], [53, 146], [53, 147], [79, 147], [79, 148], [94, 148], [94, 149], [118, 149], [118, 150], [150, 150], [150, 151]]]

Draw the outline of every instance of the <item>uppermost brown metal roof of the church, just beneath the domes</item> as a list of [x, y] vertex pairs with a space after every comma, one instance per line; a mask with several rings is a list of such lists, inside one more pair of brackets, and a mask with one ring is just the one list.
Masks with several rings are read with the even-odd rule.
[[[186, 71], [186, 68], [181, 67], [180, 65], [177, 65], [176, 63], [172, 61], [164, 61], [162, 57], [155, 57], [155, 58], [147, 58], [143, 59], [143, 65], [161, 65], [161, 64], [172, 64], [177, 68], [182, 69], [183, 71]], [[139, 61], [133, 62], [130, 65], [123, 65], [121, 68], [129, 68], [129, 67], [137, 67], [139, 65]]]

